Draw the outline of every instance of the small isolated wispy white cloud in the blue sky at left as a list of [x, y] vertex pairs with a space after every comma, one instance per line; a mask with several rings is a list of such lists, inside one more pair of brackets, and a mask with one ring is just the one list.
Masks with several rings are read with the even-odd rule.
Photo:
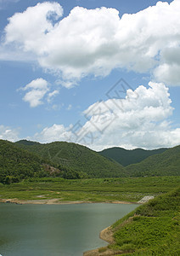
[[35, 108], [42, 104], [42, 98], [48, 92], [48, 82], [44, 79], [32, 80], [30, 84], [20, 90], [28, 90], [23, 97], [25, 102], [29, 102], [31, 108]]

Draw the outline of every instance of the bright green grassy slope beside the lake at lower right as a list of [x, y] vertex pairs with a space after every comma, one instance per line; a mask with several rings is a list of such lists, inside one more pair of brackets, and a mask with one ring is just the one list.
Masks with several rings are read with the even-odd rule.
[[179, 206], [178, 188], [138, 207], [113, 224], [115, 244], [109, 247], [123, 255], [180, 255]]

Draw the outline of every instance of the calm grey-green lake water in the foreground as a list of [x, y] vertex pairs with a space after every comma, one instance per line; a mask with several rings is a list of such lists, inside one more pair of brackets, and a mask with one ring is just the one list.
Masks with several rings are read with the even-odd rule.
[[99, 232], [137, 205], [0, 204], [0, 254], [3, 256], [82, 256], [103, 247]]

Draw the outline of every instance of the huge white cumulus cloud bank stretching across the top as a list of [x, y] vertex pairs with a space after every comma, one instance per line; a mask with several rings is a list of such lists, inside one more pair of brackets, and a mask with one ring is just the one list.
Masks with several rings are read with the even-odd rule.
[[59, 3], [37, 3], [8, 19], [5, 43], [36, 54], [41, 67], [65, 81], [126, 67], [140, 73], [155, 69], [155, 79], [180, 84], [179, 0], [121, 18], [118, 10], [105, 7], [75, 7], [62, 15]]

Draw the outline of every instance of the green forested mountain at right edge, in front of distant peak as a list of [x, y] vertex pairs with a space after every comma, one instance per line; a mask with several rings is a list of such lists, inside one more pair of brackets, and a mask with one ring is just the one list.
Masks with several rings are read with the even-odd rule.
[[126, 167], [127, 176], [178, 176], [180, 175], [180, 145], [161, 154], [149, 156], [138, 164]]

